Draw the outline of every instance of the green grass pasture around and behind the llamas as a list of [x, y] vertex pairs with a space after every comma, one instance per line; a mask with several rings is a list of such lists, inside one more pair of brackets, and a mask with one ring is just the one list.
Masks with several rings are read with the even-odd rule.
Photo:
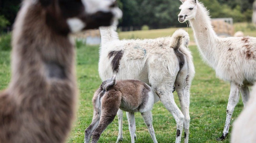
[[[237, 28], [244, 24], [235, 25]], [[256, 36], [255, 32], [246, 29], [245, 35]], [[177, 28], [168, 28], [163, 30], [150, 31], [135, 31], [122, 32], [120, 38], [155, 38], [172, 33]], [[186, 30], [186, 28], [184, 28]], [[193, 41], [193, 32], [188, 28], [191, 41]], [[191, 42], [193, 43], [193, 42]], [[229, 83], [222, 81], [215, 76], [215, 72], [208, 65], [206, 65], [200, 58], [197, 47], [195, 45], [189, 46], [193, 53], [193, 59], [196, 69], [196, 75], [192, 82], [190, 91], [190, 143], [214, 143], [218, 142], [217, 137], [222, 135], [223, 126], [226, 120], [226, 106], [228, 103], [228, 96], [230, 91]], [[82, 46], [77, 49], [77, 80], [79, 87], [79, 102], [77, 119], [73, 124], [73, 129], [67, 140], [68, 143], [82, 143], [84, 140], [84, 130], [89, 126], [93, 116], [92, 110], [92, 96], [94, 91], [101, 84], [98, 74], [98, 57], [99, 46]], [[7, 87], [10, 81], [10, 52], [0, 52], [0, 90]], [[178, 96], [174, 92], [175, 101], [179, 106]], [[243, 109], [242, 100], [234, 110], [232, 123], [237, 118]], [[159, 143], [175, 142], [176, 122], [173, 116], [164, 108], [161, 102], [154, 105], [153, 110], [153, 126], [157, 141]], [[137, 143], [152, 142], [147, 127], [143, 122], [140, 113], [135, 113], [136, 120], [136, 135]], [[123, 143], [130, 142], [130, 133], [128, 130], [128, 122], [124, 112], [123, 120]], [[100, 137], [99, 142], [115, 142], [118, 136], [118, 119], [117, 116], [114, 121], [107, 127]], [[182, 142], [184, 140], [184, 132], [182, 134]], [[230, 142], [230, 134], [227, 139], [221, 142]]]

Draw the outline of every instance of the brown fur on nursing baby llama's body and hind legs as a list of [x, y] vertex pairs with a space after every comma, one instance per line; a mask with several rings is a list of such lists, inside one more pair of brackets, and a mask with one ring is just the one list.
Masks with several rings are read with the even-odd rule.
[[[110, 82], [111, 80], [106, 81]], [[119, 108], [128, 108], [127, 111], [135, 112], [144, 108], [148, 101], [148, 92], [151, 89], [147, 84], [139, 80], [116, 81], [108, 91], [104, 89], [104, 85], [108, 84], [106, 81], [94, 93], [92, 100], [94, 116], [92, 123], [85, 130], [85, 142], [89, 142], [91, 136], [92, 142], [97, 142], [105, 128], [114, 120]], [[101, 99], [99, 96], [101, 96], [102, 92], [104, 92], [104, 95]], [[123, 102], [129, 104], [129, 107], [121, 107]], [[97, 122], [99, 122], [98, 125]]]

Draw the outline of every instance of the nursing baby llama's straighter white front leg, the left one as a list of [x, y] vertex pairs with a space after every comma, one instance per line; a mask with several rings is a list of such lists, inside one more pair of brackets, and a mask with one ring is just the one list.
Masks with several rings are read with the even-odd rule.
[[129, 131], [131, 134], [131, 142], [134, 143], [134, 134], [136, 130], [134, 112], [126, 112], [126, 116], [129, 123]]

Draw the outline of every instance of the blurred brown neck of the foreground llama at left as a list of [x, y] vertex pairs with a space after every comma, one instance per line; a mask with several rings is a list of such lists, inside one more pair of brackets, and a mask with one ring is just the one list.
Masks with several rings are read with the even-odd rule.
[[55, 79], [65, 78], [75, 84], [75, 49], [68, 35], [53, 32], [44, 17], [40, 17], [41, 13], [38, 17], [31, 16], [33, 12], [28, 12], [28, 9], [31, 10], [26, 5], [22, 8], [14, 25], [9, 89], [16, 92], [19, 88], [33, 87], [31, 92], [36, 92], [42, 90], [42, 86], [54, 76]]

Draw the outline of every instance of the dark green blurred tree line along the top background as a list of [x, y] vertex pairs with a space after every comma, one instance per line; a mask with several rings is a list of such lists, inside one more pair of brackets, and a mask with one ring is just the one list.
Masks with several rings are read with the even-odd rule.
[[[199, 0], [210, 10], [212, 18], [232, 17], [234, 22], [251, 21], [254, 0]], [[0, 1], [0, 32], [11, 27], [21, 0]], [[118, 0], [123, 10], [122, 27], [151, 29], [184, 26], [178, 22], [178, 0]]]

